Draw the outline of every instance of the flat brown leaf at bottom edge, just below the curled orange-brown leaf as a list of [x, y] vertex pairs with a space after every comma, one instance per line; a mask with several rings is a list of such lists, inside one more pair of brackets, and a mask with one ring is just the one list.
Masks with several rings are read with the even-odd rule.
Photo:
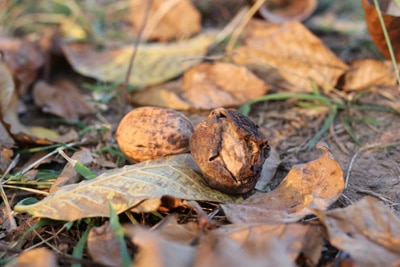
[[226, 225], [213, 231], [225, 235], [242, 246], [248, 242], [262, 243], [268, 239], [279, 240], [285, 254], [294, 263], [303, 254], [308, 262], [316, 265], [321, 256], [322, 237], [317, 227], [302, 224], [256, 224], [256, 225]]

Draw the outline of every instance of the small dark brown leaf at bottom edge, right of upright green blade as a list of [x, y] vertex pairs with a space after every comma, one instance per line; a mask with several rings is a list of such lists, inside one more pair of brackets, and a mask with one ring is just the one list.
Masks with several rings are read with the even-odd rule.
[[106, 266], [123, 266], [121, 248], [108, 222], [90, 229], [87, 247], [90, 257]]

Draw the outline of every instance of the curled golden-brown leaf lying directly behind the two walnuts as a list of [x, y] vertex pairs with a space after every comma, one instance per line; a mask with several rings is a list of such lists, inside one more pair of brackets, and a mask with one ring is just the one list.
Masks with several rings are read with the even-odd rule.
[[173, 109], [234, 107], [265, 95], [269, 86], [249, 69], [229, 63], [201, 63], [182, 80], [132, 93], [131, 102]]

